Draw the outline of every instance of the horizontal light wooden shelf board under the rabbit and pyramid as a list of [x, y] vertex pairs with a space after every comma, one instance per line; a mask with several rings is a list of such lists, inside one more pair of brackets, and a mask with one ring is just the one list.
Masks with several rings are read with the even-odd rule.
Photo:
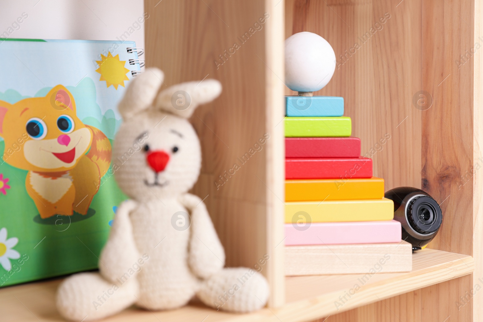
[[[471, 274], [474, 261], [469, 255], [426, 249], [413, 254], [412, 266], [413, 270], [407, 273], [377, 273], [369, 279], [366, 277], [364, 285], [360, 281], [364, 274], [289, 277], [285, 279], [286, 304], [283, 307], [265, 308], [250, 314], [230, 314], [192, 303], [171, 311], [131, 308], [104, 321], [312, 321]], [[54, 307], [59, 283], [60, 280], [51, 280], [1, 289], [2, 318], [16, 322], [64, 321]], [[361, 288], [351, 298], [346, 295], [348, 300], [342, 304], [339, 296], [344, 296], [355, 284]], [[336, 301], [342, 304], [339, 310]]]

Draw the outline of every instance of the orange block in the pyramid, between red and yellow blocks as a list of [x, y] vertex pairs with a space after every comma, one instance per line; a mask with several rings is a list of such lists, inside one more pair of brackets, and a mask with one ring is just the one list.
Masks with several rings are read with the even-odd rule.
[[285, 201], [358, 200], [384, 197], [384, 179], [285, 180]]

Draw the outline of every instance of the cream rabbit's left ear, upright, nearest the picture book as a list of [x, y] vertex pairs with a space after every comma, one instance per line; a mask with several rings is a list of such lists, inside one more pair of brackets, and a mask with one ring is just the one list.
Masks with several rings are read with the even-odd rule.
[[118, 109], [124, 119], [147, 109], [153, 104], [157, 91], [164, 79], [164, 73], [157, 68], [149, 68], [131, 81]]

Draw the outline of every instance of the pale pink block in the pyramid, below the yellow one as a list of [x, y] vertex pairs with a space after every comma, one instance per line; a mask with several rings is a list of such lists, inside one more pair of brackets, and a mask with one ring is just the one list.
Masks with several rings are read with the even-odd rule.
[[285, 224], [285, 245], [338, 245], [398, 243], [401, 224], [395, 220], [377, 222], [312, 223], [306, 230]]

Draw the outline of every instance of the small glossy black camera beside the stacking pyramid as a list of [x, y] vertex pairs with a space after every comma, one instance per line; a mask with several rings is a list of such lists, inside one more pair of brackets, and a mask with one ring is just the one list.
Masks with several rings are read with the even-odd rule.
[[402, 239], [420, 250], [438, 233], [442, 221], [441, 208], [421, 189], [398, 187], [387, 191], [384, 197], [394, 201], [394, 220], [401, 223]]

